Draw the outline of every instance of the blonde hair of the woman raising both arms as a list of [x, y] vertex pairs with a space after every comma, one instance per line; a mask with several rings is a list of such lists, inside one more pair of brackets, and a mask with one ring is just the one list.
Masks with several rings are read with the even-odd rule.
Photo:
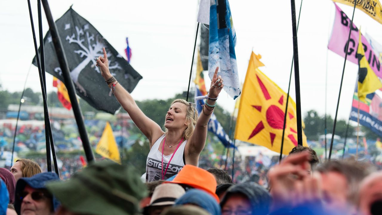
[[[174, 103], [180, 102], [182, 104], [185, 104], [187, 106], [186, 111], [186, 121], [188, 122], [186, 130], [183, 132], [183, 137], [188, 140], [188, 138], [191, 137], [191, 135], [194, 133], [194, 128], [197, 121], [197, 111], [194, 103], [189, 103], [185, 99], [175, 99], [171, 105]], [[170, 105], [170, 106], [171, 106]], [[168, 132], [168, 129], [165, 128], [165, 133]]]

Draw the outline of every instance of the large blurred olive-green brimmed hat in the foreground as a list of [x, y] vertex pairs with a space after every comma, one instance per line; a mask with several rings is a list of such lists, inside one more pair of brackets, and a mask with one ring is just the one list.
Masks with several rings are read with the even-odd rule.
[[136, 214], [147, 192], [131, 166], [112, 161], [92, 163], [70, 180], [46, 187], [70, 212], [89, 215]]

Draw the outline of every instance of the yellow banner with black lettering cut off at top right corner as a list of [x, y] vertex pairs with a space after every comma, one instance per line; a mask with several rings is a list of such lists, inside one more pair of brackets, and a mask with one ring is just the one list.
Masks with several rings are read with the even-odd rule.
[[[333, 0], [333, 2], [354, 7], [354, 0]], [[382, 7], [379, 0], [357, 0], [356, 8], [382, 24]]]

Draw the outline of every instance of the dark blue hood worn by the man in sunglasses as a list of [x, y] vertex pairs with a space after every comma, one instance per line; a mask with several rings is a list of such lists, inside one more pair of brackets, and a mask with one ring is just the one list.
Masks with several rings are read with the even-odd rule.
[[[20, 178], [16, 183], [15, 192], [15, 210], [17, 214], [20, 214], [21, 202], [23, 201], [18, 196], [24, 191], [25, 186], [32, 187], [33, 189], [46, 189], [45, 184], [50, 181], [59, 181], [60, 178], [56, 173], [39, 173], [30, 178]], [[60, 205], [60, 202], [53, 196], [52, 198], [53, 209], [56, 210]]]

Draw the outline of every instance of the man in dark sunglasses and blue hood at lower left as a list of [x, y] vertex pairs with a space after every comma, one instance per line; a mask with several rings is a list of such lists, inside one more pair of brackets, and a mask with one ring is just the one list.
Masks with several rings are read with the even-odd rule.
[[51, 215], [59, 202], [46, 189], [45, 183], [59, 181], [55, 173], [39, 173], [20, 178], [16, 184], [15, 210], [18, 215]]

